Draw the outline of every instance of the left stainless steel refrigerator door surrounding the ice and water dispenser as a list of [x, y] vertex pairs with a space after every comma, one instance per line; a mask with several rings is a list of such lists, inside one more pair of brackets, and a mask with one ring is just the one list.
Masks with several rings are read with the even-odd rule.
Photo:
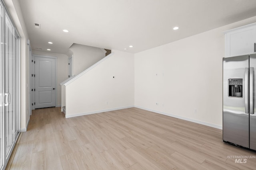
[[[248, 68], [249, 55], [223, 59], [223, 140], [243, 147], [249, 147]], [[229, 80], [237, 78], [242, 97], [229, 96]]]

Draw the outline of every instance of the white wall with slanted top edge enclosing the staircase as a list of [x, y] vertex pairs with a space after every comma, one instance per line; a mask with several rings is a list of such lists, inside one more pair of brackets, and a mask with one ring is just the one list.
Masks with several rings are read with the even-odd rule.
[[112, 52], [66, 86], [66, 117], [134, 106], [134, 54]]

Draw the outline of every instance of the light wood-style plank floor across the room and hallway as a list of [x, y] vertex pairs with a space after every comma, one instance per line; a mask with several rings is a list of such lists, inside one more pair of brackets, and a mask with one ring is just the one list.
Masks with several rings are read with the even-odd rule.
[[[256, 152], [222, 142], [222, 131], [138, 108], [64, 117], [60, 107], [32, 112], [12, 170], [256, 169]], [[8, 169], [9, 169], [8, 168]]]

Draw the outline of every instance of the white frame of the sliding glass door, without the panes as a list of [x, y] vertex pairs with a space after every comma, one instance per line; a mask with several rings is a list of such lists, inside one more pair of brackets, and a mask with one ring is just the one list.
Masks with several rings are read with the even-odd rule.
[[[0, 170], [5, 169], [6, 165], [8, 163], [8, 160], [12, 154], [12, 150], [14, 149], [14, 146], [16, 144], [16, 141], [18, 139], [18, 136], [20, 134], [20, 36], [18, 34], [18, 31], [15, 28], [14, 22], [12, 21], [8, 11], [6, 10], [4, 3], [2, 2], [2, 0], [0, 1], [0, 6], [2, 6], [2, 32], [0, 32], [0, 34], [2, 34], [2, 39], [1, 39], [1, 48], [2, 48], [2, 56], [1, 56], [1, 60], [2, 60], [2, 167], [0, 167]], [[4, 106], [4, 94], [6, 93], [6, 83], [5, 80], [6, 79], [6, 17], [8, 18], [8, 20], [10, 21], [10, 24], [12, 25], [12, 29], [13, 29], [13, 35], [12, 35], [12, 39], [13, 39], [13, 121], [12, 121], [12, 128], [13, 128], [13, 141], [12, 144], [10, 146], [9, 152], [7, 153], [7, 133], [6, 132], [6, 106]], [[1, 130], [1, 129], [0, 129]]]

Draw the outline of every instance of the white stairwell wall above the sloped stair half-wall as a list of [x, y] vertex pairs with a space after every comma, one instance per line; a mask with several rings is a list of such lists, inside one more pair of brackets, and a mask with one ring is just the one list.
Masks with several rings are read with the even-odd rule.
[[73, 52], [73, 75], [78, 75], [105, 57], [104, 51], [97, 47], [74, 43], [69, 49]]

